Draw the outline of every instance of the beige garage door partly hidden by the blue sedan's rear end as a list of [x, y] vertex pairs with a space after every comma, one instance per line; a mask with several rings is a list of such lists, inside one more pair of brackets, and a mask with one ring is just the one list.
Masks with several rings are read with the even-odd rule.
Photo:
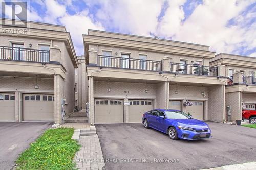
[[143, 113], [152, 109], [152, 100], [129, 100], [129, 122], [141, 122]]

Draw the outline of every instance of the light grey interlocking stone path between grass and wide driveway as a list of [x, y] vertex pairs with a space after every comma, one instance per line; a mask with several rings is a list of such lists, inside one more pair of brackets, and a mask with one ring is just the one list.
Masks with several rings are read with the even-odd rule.
[[76, 168], [80, 170], [104, 169], [105, 166], [98, 135], [80, 136], [82, 146], [75, 156]]

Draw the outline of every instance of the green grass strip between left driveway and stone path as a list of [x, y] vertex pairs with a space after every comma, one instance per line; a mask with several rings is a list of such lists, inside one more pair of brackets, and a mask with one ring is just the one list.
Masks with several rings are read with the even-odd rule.
[[74, 169], [73, 158], [80, 145], [71, 139], [72, 128], [45, 131], [16, 161], [16, 169]]

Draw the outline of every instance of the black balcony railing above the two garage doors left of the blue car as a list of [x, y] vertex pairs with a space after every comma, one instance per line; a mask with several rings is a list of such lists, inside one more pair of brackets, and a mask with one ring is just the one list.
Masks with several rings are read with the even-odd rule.
[[122, 57], [114, 57], [114, 56], [102, 56], [102, 55], [98, 55], [98, 66], [121, 68], [121, 69], [146, 70], [146, 71], [162, 70], [161, 61], [122, 58]]

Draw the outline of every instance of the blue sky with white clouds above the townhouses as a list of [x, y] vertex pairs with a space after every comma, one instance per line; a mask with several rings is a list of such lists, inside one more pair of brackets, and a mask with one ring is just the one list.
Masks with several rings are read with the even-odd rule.
[[77, 55], [96, 29], [256, 57], [255, 0], [30, 0], [29, 20], [66, 26]]

